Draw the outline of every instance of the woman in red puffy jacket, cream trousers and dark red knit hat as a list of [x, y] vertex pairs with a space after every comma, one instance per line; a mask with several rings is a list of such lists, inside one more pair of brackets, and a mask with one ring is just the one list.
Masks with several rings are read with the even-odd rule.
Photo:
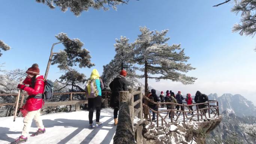
[[28, 68], [28, 70], [26, 71], [27, 77], [23, 81], [24, 85], [18, 85], [18, 88], [26, 91], [29, 96], [21, 110], [21, 113], [24, 116], [24, 127], [21, 136], [11, 144], [24, 143], [28, 140], [28, 132], [33, 119], [36, 121], [36, 126], [38, 127], [38, 130], [31, 136], [45, 133], [45, 127], [43, 126], [43, 122], [40, 117], [40, 110], [42, 108], [42, 105], [44, 104], [42, 100], [42, 94], [45, 88], [45, 81], [43, 79], [43, 76], [39, 75], [39, 72], [40, 70], [38, 68], [38, 64], [33, 64], [32, 67]]

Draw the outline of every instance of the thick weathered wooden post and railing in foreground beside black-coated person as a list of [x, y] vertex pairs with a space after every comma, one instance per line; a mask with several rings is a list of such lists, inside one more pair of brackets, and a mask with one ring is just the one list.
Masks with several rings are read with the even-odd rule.
[[[135, 144], [135, 131], [137, 126], [143, 122], [143, 106], [142, 106], [142, 91], [138, 88], [137, 91], [128, 89], [129, 91], [120, 91], [119, 95], [119, 115], [116, 134], [113, 138], [113, 144]], [[138, 99], [134, 101], [134, 96], [138, 95]], [[134, 108], [139, 105], [138, 108]], [[134, 118], [138, 118], [134, 123]]]

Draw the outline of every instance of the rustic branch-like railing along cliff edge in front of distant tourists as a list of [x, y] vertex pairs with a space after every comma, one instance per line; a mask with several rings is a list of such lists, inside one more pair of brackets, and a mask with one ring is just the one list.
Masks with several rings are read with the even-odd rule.
[[[171, 123], [173, 122], [177, 122], [179, 120], [180, 115], [183, 115], [183, 123], [185, 123], [185, 119], [188, 119], [189, 122], [191, 122], [191, 120], [193, 119], [194, 116], [197, 116], [197, 120], [199, 121], [199, 119], [203, 120], [203, 116], [205, 117], [205, 119], [207, 119], [207, 111], [208, 111], [208, 118], [211, 118], [210, 114], [214, 113], [214, 116], [219, 116], [219, 103], [218, 101], [207, 101], [204, 103], [196, 103], [196, 104], [191, 104], [191, 105], [187, 105], [187, 104], [177, 104], [174, 102], [154, 102], [152, 101], [152, 99], [147, 98], [146, 96], [144, 96], [144, 99], [147, 100], [150, 103], [156, 104], [156, 110], [153, 110], [152, 108], [150, 108], [148, 105], [143, 104], [143, 107], [146, 107], [149, 113], [149, 119], [150, 119], [150, 123], [152, 124], [152, 119], [150, 116], [150, 110], [154, 113], [156, 113], [156, 126], [159, 126], [159, 117], [161, 117], [161, 124], [164, 125], [164, 122], [167, 124], [166, 118], [168, 117], [169, 113], [171, 113]], [[212, 103], [216, 103], [216, 105], [212, 104]], [[159, 110], [159, 105], [161, 104], [170, 104], [171, 105], [171, 109], [168, 110]], [[176, 110], [174, 109], [174, 107], [176, 105], [179, 105], [180, 107], [183, 108], [183, 110]], [[206, 105], [206, 108], [199, 108], [199, 105]], [[189, 106], [196, 106], [196, 110], [190, 110]], [[188, 110], [190, 111], [185, 111], [185, 107], [188, 108]], [[179, 114], [176, 114], [175, 111], [179, 112]], [[211, 111], [211, 113], [210, 113]], [[167, 112], [166, 116], [163, 117], [161, 116], [161, 113], [165, 113]], [[193, 114], [191, 117], [188, 117], [187, 113], [189, 112], [195, 112], [195, 114]], [[173, 120], [173, 115], [176, 116], [176, 120]]]

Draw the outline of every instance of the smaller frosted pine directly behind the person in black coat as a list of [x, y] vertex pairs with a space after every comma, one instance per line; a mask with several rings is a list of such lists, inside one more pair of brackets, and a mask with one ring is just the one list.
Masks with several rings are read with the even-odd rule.
[[116, 55], [109, 64], [103, 66], [102, 79], [105, 86], [109, 86], [109, 83], [118, 76], [119, 72], [123, 69], [127, 71], [127, 77], [134, 78], [135, 67], [133, 61], [133, 48], [128, 42], [129, 39], [121, 36], [120, 39], [116, 39], [114, 45]]

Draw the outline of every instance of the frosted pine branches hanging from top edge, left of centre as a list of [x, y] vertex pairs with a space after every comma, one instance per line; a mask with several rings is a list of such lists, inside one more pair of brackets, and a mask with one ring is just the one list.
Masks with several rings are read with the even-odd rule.
[[88, 11], [89, 8], [108, 10], [107, 6], [117, 9], [119, 4], [127, 4], [128, 0], [36, 0], [38, 3], [45, 3], [51, 9], [55, 6], [60, 7], [61, 11], [65, 12], [70, 9], [75, 15], [80, 15], [83, 11]]

